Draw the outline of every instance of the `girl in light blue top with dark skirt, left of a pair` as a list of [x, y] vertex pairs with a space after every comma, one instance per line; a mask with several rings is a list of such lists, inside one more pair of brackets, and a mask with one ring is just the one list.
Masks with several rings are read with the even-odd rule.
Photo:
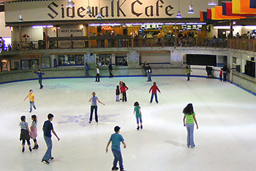
[[29, 146], [29, 151], [32, 151], [31, 146], [30, 146], [30, 141], [29, 141], [29, 139], [30, 139], [29, 124], [28, 124], [28, 122], [26, 122], [26, 116], [21, 116], [20, 120], [21, 120], [21, 122], [20, 122], [20, 140], [22, 140], [22, 152], [25, 151], [25, 148], [24, 148], [25, 141]]

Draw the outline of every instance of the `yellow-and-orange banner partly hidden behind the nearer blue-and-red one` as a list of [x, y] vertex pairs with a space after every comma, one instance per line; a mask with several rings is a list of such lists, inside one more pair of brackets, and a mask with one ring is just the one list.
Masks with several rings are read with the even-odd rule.
[[222, 15], [222, 6], [215, 6], [214, 8], [211, 8], [212, 20], [239, 20], [242, 18], [246, 18], [246, 17]]

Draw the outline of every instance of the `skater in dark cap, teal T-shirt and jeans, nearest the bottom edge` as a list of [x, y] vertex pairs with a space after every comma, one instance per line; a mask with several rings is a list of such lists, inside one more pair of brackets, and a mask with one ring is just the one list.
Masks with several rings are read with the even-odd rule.
[[125, 171], [124, 166], [123, 166], [123, 159], [121, 156], [120, 143], [122, 143], [124, 145], [124, 148], [127, 148], [127, 145], [126, 145], [126, 143], [124, 143], [124, 138], [122, 137], [122, 135], [119, 134], [120, 128], [121, 127], [118, 127], [118, 126], [116, 126], [114, 128], [116, 133], [111, 135], [110, 140], [108, 141], [108, 144], [107, 144], [106, 153], [108, 153], [108, 146], [112, 142], [111, 149], [112, 149], [112, 153], [114, 156], [112, 170], [118, 170], [118, 167], [116, 167], [116, 165], [117, 165], [117, 162], [119, 162], [120, 171]]

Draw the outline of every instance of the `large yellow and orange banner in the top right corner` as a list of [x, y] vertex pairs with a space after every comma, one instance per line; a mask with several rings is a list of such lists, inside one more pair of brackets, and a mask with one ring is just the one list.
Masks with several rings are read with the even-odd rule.
[[232, 0], [233, 14], [256, 14], [256, 9], [250, 8], [250, 0]]

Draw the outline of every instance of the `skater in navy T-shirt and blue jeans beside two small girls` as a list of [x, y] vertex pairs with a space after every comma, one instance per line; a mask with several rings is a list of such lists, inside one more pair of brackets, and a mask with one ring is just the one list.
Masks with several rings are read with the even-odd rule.
[[45, 143], [48, 147], [47, 151], [45, 152], [45, 156], [42, 157], [42, 162], [45, 164], [50, 164], [49, 160], [53, 160], [53, 156], [51, 156], [53, 143], [51, 140], [50, 132], [53, 132], [53, 134], [56, 136], [56, 138], [58, 140], [60, 140], [60, 138], [58, 137], [56, 132], [53, 130], [53, 124], [51, 123], [51, 121], [53, 121], [53, 114], [48, 114], [48, 120], [45, 121], [44, 125], [42, 126], [42, 131], [44, 132]]

